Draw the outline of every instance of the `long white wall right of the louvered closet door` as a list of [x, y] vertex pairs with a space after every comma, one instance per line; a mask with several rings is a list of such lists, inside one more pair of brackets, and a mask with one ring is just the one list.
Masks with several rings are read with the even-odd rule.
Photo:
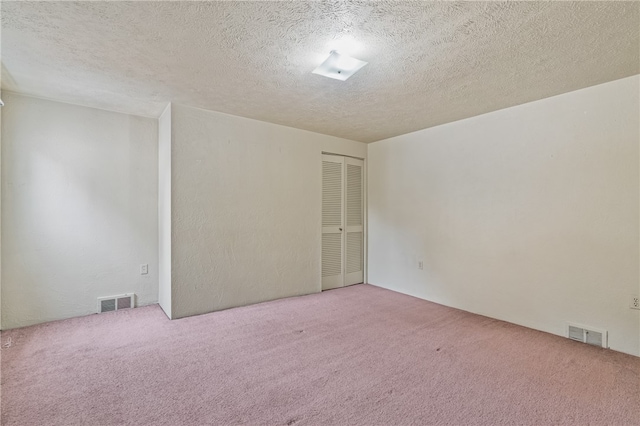
[[370, 144], [369, 282], [640, 355], [639, 81]]

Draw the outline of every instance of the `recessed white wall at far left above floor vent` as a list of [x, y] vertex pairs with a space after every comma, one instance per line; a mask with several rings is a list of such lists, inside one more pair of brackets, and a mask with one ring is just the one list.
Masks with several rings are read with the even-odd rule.
[[3, 328], [155, 303], [157, 120], [3, 95]]

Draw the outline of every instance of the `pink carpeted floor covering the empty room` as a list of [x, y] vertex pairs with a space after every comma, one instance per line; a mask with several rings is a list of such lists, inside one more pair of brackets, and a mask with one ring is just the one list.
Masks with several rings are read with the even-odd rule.
[[6, 426], [640, 424], [640, 358], [368, 285], [9, 339]]

